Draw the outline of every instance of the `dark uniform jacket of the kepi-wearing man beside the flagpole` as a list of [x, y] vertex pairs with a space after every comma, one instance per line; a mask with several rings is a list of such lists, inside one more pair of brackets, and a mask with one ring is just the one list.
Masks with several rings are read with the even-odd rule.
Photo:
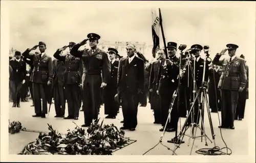
[[173, 65], [165, 64], [162, 60], [157, 77], [157, 86], [159, 93], [168, 94], [169, 89], [176, 89], [178, 85], [179, 67], [174, 63]]

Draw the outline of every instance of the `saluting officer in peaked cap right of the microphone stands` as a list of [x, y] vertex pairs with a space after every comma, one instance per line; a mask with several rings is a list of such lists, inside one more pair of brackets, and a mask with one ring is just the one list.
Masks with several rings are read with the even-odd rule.
[[[221, 126], [219, 128], [234, 129], [234, 118], [238, 104], [239, 92], [246, 86], [245, 60], [236, 56], [239, 47], [236, 44], [227, 44], [219, 55], [216, 55], [213, 64], [223, 67], [218, 88], [221, 89]], [[228, 50], [229, 58], [220, 60]]]

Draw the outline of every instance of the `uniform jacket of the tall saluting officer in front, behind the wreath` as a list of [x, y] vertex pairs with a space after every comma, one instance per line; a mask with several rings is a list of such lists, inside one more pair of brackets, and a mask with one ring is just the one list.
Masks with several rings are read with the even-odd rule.
[[92, 52], [92, 49], [78, 50], [80, 46], [80, 44], [73, 46], [70, 50], [71, 55], [82, 58], [84, 73], [88, 75], [100, 75], [102, 72], [103, 83], [107, 84], [111, 75], [108, 54], [99, 48], [95, 49], [94, 52]]

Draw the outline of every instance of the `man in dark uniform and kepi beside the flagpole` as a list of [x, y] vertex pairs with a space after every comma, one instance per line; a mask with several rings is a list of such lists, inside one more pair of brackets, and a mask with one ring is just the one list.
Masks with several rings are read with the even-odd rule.
[[[177, 43], [168, 42], [168, 59], [164, 59], [161, 62], [159, 68], [157, 85], [157, 93], [160, 95], [160, 106], [161, 106], [161, 123], [162, 128], [159, 131], [164, 131], [164, 126], [168, 118], [169, 108], [172, 103], [173, 94], [178, 87], [178, 75], [179, 75], [179, 66], [176, 64], [178, 61], [176, 59]], [[178, 119], [177, 114], [177, 104], [173, 105], [172, 112], [170, 113], [170, 119], [167, 121], [165, 131], [173, 132], [176, 128], [176, 119]]]

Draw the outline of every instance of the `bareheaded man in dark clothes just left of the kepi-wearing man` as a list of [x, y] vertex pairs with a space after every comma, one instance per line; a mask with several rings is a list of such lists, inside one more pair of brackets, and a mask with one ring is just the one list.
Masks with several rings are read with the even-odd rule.
[[161, 107], [160, 107], [160, 97], [157, 94], [157, 76], [158, 71], [161, 66], [161, 61], [165, 59], [165, 54], [163, 50], [158, 51], [158, 60], [152, 63], [151, 71], [150, 71], [150, 82], [149, 82], [149, 90], [152, 93], [151, 95], [151, 108], [154, 111], [155, 124], [161, 124]]

